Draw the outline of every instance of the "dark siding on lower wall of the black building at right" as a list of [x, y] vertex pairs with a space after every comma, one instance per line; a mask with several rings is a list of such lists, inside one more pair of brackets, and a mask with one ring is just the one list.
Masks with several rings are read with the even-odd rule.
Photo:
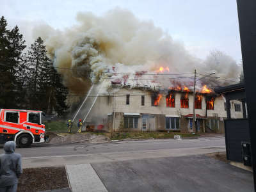
[[243, 162], [241, 142], [250, 142], [248, 119], [225, 120], [227, 159]]

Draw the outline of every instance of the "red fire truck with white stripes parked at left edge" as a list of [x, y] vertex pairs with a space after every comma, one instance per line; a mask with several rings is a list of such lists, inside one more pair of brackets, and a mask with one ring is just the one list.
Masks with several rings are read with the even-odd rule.
[[0, 143], [15, 141], [20, 147], [43, 143], [42, 111], [0, 109]]

